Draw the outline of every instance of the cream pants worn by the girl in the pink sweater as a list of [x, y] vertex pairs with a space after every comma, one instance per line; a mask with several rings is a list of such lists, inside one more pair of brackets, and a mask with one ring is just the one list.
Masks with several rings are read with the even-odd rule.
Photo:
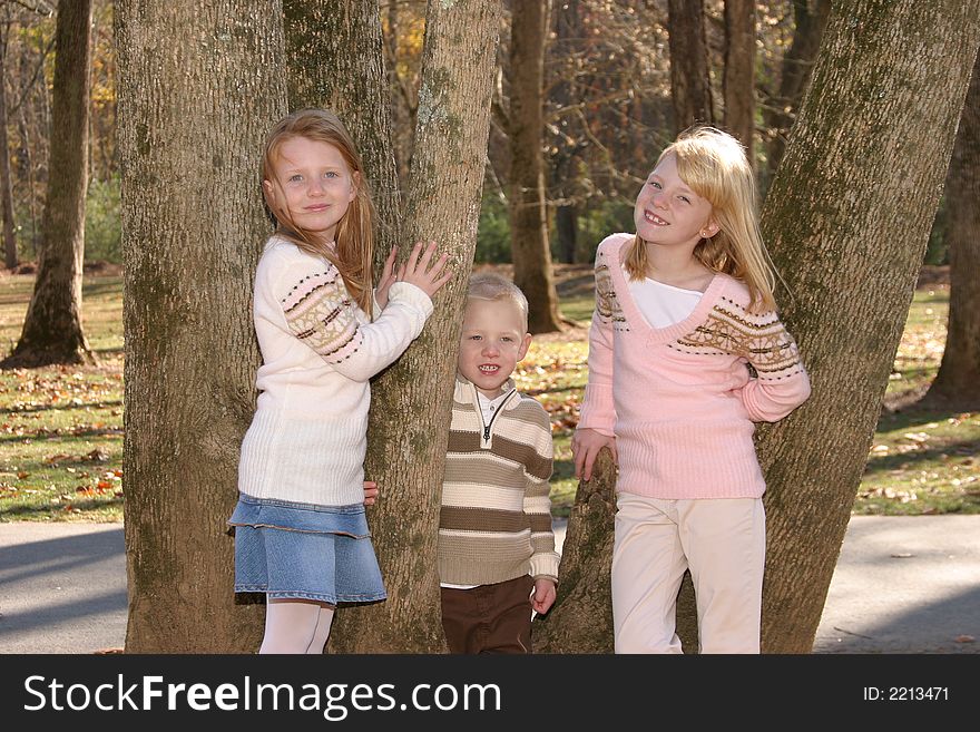
[[612, 547], [616, 653], [682, 653], [677, 593], [690, 569], [700, 653], [758, 653], [761, 498], [667, 500], [619, 494]]

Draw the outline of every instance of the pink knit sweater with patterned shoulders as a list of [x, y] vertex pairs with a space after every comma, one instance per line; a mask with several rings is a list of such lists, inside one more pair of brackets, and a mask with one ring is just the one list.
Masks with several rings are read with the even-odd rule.
[[810, 396], [796, 344], [775, 312], [749, 313], [747, 287], [725, 274], [715, 275], [685, 320], [650, 328], [620, 262], [631, 241], [612, 234], [596, 253], [589, 381], [578, 426], [616, 437], [617, 490], [757, 498], [765, 481], [753, 422], [782, 419]]

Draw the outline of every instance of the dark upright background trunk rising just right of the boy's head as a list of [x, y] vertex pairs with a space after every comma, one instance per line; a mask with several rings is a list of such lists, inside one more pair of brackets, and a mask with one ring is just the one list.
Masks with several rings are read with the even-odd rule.
[[561, 330], [548, 243], [542, 160], [547, 3], [514, 2], [510, 22], [510, 251], [513, 282], [528, 299], [528, 330]]

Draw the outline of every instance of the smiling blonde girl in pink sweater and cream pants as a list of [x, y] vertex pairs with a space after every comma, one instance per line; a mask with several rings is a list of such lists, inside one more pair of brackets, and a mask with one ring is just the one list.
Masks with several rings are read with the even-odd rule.
[[617, 653], [680, 653], [689, 569], [702, 653], [758, 653], [765, 481], [756, 421], [810, 396], [776, 314], [752, 168], [700, 127], [660, 155], [636, 198], [636, 234], [596, 253], [589, 380], [576, 476], [599, 450], [619, 467], [612, 550]]

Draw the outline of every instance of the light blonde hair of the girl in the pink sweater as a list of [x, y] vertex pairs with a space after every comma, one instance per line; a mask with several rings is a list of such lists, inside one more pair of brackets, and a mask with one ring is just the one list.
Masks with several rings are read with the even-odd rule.
[[[678, 175], [712, 204], [712, 219], [718, 225], [714, 236], [694, 247], [694, 256], [708, 270], [744, 282], [751, 310], [774, 310], [775, 270], [758, 231], [758, 196], [745, 149], [721, 129], [693, 127], [660, 153], [657, 165], [672, 153]], [[624, 263], [631, 279], [646, 276], [647, 247], [638, 236]]]

